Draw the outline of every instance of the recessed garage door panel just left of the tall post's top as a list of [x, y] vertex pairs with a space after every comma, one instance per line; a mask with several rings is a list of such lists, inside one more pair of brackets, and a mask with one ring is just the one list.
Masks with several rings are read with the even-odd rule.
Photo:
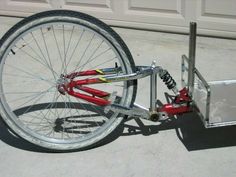
[[[184, 26], [185, 0], [128, 0], [125, 2], [123, 19], [133, 22]], [[158, 22], [158, 23], [157, 23]]]

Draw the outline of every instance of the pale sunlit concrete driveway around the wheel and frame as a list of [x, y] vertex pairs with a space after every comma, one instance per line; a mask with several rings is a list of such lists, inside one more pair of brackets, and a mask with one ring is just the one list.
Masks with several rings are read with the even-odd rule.
[[[0, 36], [19, 19], [0, 18]], [[181, 55], [188, 36], [114, 28], [133, 54], [136, 65], [152, 60], [180, 83]], [[197, 67], [210, 80], [235, 79], [236, 41], [197, 38]], [[139, 82], [137, 103], [149, 104], [148, 79]], [[158, 82], [158, 96], [167, 91]], [[0, 171], [4, 177], [221, 177], [236, 174], [236, 127], [205, 130], [192, 114], [162, 125], [127, 120], [108, 143], [86, 151], [44, 153], [13, 136], [0, 123]]]

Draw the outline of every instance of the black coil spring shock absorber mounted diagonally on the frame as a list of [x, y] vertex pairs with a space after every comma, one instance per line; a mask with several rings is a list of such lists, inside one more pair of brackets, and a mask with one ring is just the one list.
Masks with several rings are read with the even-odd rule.
[[159, 72], [159, 77], [163, 80], [169, 90], [173, 90], [175, 94], [178, 93], [178, 89], [176, 88], [176, 82], [167, 70], [162, 69]]

